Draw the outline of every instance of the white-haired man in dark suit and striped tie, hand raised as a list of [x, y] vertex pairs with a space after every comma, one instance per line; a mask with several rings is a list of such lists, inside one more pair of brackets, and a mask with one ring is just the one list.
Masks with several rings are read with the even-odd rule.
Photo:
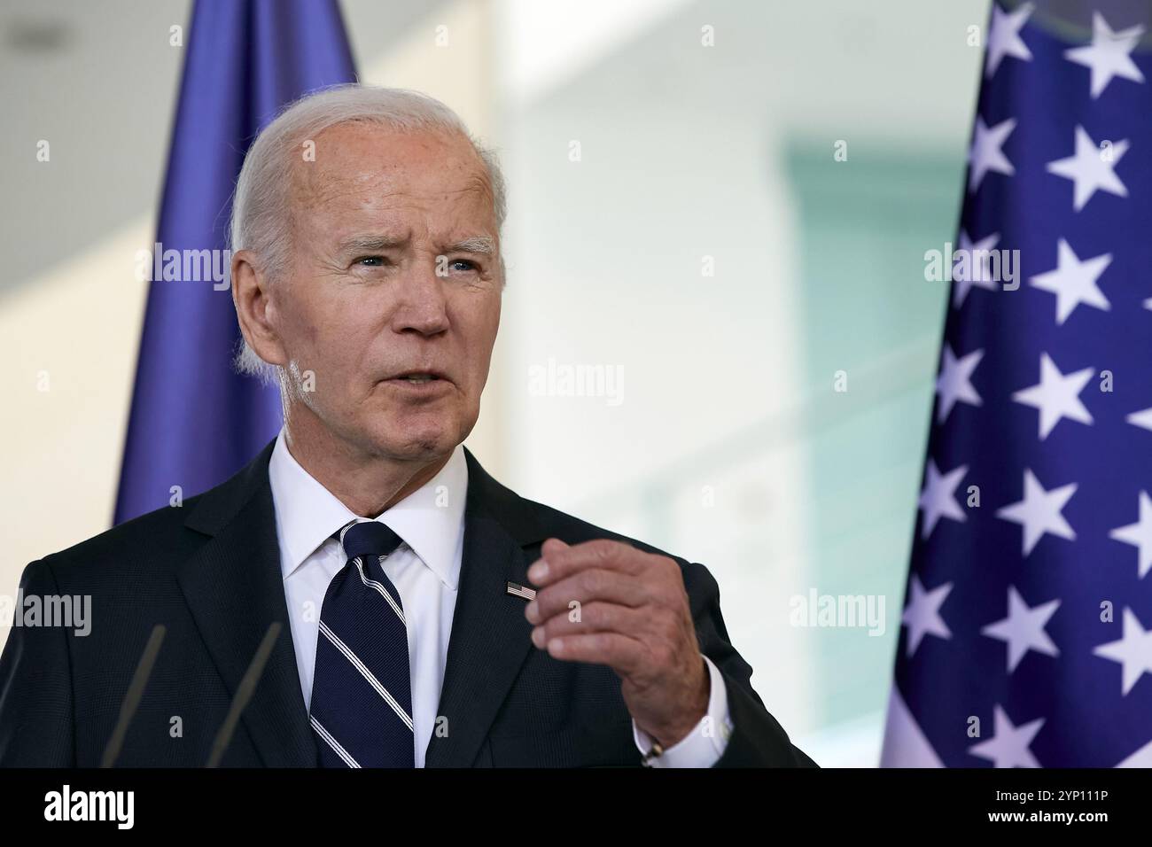
[[233, 300], [285, 428], [218, 487], [29, 565], [21, 596], [90, 597], [90, 632], [13, 628], [0, 765], [813, 764], [702, 565], [462, 447], [503, 209], [494, 157], [415, 92], [329, 90], [260, 134]]

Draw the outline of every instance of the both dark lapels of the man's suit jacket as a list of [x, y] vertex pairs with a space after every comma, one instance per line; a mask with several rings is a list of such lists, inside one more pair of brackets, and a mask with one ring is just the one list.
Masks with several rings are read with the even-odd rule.
[[[177, 581], [229, 694], [273, 621], [280, 636], [241, 724], [265, 765], [316, 766], [280, 572], [268, 482], [270, 443], [235, 477], [203, 494], [185, 525], [211, 536], [177, 568]], [[516, 674], [532, 650], [525, 600], [507, 583], [528, 584], [524, 547], [544, 538], [533, 513], [464, 449], [468, 494], [460, 589], [440, 706], [447, 734], [433, 731], [429, 767], [471, 765]], [[237, 728], [237, 732], [240, 729]]]

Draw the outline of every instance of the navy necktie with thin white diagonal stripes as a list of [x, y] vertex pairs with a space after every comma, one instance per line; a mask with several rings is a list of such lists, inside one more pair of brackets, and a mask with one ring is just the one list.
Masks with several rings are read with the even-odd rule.
[[321, 767], [415, 767], [408, 628], [380, 562], [401, 538], [379, 521], [340, 534], [348, 564], [320, 608], [310, 720]]

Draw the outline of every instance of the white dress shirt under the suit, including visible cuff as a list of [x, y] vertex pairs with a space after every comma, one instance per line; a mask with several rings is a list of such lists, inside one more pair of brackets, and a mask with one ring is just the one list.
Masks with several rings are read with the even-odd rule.
[[[301, 467], [288, 451], [283, 429], [272, 451], [268, 477], [296, 668], [304, 704], [311, 708], [320, 608], [328, 583], [347, 564], [332, 534], [365, 519], [353, 514]], [[440, 705], [464, 552], [465, 498], [455, 492], [465, 491], [468, 463], [463, 446], [457, 445], [440, 472], [376, 517], [404, 542], [382, 567], [400, 592], [408, 623], [417, 767], [424, 766]], [[732, 732], [728, 695], [715, 665], [707, 657], [705, 663], [711, 680], [708, 713], [694, 732], [653, 759], [653, 766], [710, 767], [722, 755]], [[652, 740], [635, 720], [632, 734], [637, 749], [646, 753]]]

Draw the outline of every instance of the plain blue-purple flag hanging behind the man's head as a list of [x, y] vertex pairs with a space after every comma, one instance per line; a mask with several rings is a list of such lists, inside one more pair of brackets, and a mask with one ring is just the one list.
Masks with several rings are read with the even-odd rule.
[[[288, 103], [355, 81], [334, 0], [197, 0], [172, 135], [115, 522], [234, 474], [281, 424], [276, 388], [238, 376], [227, 269], [244, 152]], [[212, 251], [210, 254], [203, 251]], [[222, 278], [221, 278], [222, 270]]]

